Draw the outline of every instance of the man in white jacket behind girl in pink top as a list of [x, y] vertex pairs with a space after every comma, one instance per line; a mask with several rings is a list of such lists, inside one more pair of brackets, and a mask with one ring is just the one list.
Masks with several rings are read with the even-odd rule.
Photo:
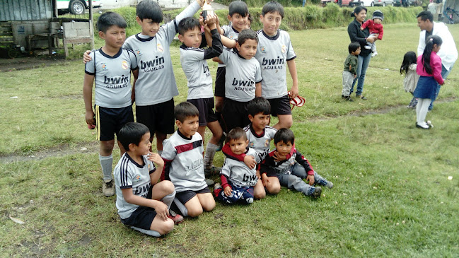
[[[445, 80], [451, 72], [451, 69], [453, 69], [455, 61], [458, 59], [458, 49], [455, 47], [453, 36], [449, 32], [445, 23], [434, 22], [434, 16], [429, 11], [422, 11], [417, 15], [417, 25], [421, 29], [421, 33], [419, 34], [419, 45], [417, 46], [418, 57], [424, 52], [427, 37], [437, 35], [438, 37], [441, 37], [441, 40], [443, 40], [441, 49], [437, 54], [441, 57], [441, 77]], [[438, 96], [439, 91], [440, 84], [437, 84], [435, 98]], [[432, 100], [432, 103], [434, 100]], [[432, 103], [429, 110], [434, 107]]]

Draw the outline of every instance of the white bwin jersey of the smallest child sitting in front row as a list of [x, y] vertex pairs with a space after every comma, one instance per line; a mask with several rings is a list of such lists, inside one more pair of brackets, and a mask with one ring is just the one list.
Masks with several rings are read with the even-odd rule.
[[[245, 155], [254, 156], [257, 163], [261, 162], [257, 151], [252, 148], [249, 148]], [[232, 158], [225, 159], [220, 174], [228, 177], [231, 184], [236, 187], [253, 187], [258, 181], [256, 168], [250, 169], [243, 161]]]

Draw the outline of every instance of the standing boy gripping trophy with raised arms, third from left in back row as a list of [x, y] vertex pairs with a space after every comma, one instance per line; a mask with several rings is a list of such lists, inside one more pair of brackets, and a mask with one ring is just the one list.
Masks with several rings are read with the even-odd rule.
[[212, 168], [218, 143], [223, 135], [223, 130], [218, 121], [219, 118], [216, 117], [214, 112], [212, 77], [207, 65], [207, 59], [218, 57], [223, 51], [215, 21], [216, 16], [207, 16], [205, 20], [212, 35], [212, 40], [209, 42], [211, 47], [206, 49], [200, 48], [203, 40], [199, 20], [187, 17], [178, 23], [178, 39], [183, 43], [180, 46], [180, 63], [188, 81], [187, 101], [196, 106], [199, 111], [199, 127], [197, 131], [201, 134], [202, 141], [204, 141], [206, 126], [209, 127], [212, 133], [204, 156], [204, 170], [209, 172]]

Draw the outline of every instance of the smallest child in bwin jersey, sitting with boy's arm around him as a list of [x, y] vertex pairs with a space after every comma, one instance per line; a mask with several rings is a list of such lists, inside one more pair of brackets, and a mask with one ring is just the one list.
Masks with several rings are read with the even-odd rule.
[[[234, 154], [245, 153], [246, 155], [255, 156], [256, 162], [260, 162], [257, 152], [252, 148], [248, 148], [249, 141], [242, 128], [236, 127], [229, 131], [226, 141]], [[253, 202], [253, 187], [258, 181], [255, 168], [249, 168], [243, 161], [226, 158], [221, 168], [220, 179], [221, 184], [215, 184], [214, 187], [216, 199], [228, 204], [236, 204], [238, 201], [242, 201], [243, 204], [251, 204]]]

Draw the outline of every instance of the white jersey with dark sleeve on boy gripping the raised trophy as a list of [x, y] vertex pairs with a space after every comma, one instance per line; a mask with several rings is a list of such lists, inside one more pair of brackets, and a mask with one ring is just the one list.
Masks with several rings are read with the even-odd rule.
[[180, 63], [187, 76], [187, 100], [213, 98], [212, 77], [207, 59], [218, 57], [223, 50], [218, 30], [212, 30], [212, 47], [207, 49], [180, 46]]

